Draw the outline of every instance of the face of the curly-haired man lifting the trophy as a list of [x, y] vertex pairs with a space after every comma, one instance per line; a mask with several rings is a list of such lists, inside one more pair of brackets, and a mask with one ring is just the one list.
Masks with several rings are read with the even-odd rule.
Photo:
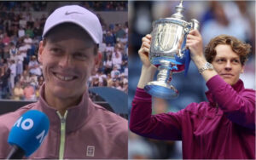
[[219, 44], [215, 50], [216, 56], [212, 60], [212, 66], [226, 83], [234, 85], [244, 69], [239, 55], [232, 51], [230, 45]]

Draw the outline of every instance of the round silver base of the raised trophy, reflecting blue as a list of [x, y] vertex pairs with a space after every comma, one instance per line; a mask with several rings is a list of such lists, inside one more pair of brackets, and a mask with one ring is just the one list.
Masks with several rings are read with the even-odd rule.
[[150, 82], [145, 87], [144, 90], [154, 97], [161, 99], [174, 99], [177, 98], [178, 91], [172, 85], [166, 83], [160, 83], [158, 81]]

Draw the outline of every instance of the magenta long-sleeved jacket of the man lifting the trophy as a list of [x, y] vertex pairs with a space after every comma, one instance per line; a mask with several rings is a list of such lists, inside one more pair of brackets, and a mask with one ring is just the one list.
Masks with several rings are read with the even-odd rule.
[[177, 113], [151, 115], [151, 96], [137, 89], [130, 129], [148, 138], [182, 140], [183, 158], [255, 159], [255, 90], [217, 76], [207, 81], [207, 99]]

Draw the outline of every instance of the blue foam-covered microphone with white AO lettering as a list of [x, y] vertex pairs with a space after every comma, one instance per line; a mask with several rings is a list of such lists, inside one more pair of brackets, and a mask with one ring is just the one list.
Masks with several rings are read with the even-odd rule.
[[41, 111], [26, 111], [9, 132], [8, 142], [13, 146], [6, 159], [29, 157], [44, 141], [49, 130], [49, 119]]

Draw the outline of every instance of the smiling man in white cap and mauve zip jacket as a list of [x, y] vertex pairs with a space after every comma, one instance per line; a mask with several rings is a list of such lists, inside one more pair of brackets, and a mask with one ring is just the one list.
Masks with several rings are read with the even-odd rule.
[[88, 94], [87, 80], [98, 63], [99, 43], [102, 26], [89, 10], [71, 5], [49, 15], [38, 49], [45, 79], [40, 98], [0, 117], [0, 158], [9, 153], [12, 125], [31, 109], [43, 111], [50, 127], [42, 145], [28, 158], [127, 158], [127, 121], [94, 104]]

